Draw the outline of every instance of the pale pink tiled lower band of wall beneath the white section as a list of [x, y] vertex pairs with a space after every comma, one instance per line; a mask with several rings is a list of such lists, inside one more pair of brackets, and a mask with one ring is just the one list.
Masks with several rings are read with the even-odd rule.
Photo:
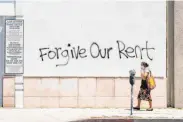
[[[14, 107], [13, 77], [4, 78], [3, 106]], [[166, 79], [156, 78], [153, 107], [166, 108]], [[134, 86], [134, 105], [140, 79]], [[28, 78], [24, 77], [24, 108], [129, 108], [128, 78]], [[142, 108], [148, 102], [142, 102]]]

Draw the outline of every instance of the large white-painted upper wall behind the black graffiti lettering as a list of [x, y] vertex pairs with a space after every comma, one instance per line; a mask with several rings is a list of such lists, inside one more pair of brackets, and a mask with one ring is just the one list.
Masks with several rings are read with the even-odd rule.
[[[147, 61], [155, 76], [166, 74], [166, 2], [62, 1], [17, 3], [24, 16], [25, 76], [129, 76], [140, 73], [140, 62]], [[20, 9], [20, 8], [19, 8]], [[117, 40], [126, 46], [154, 47], [140, 58], [119, 58]], [[113, 49], [110, 59], [92, 58], [90, 45]], [[39, 48], [86, 48], [87, 58], [41, 61]], [[121, 47], [122, 48], [122, 47]], [[96, 48], [94, 53], [96, 54]], [[102, 50], [103, 51], [103, 50]], [[43, 52], [45, 53], [45, 52]], [[60, 52], [61, 53], [61, 52]], [[53, 54], [53, 53], [52, 53]], [[139, 52], [138, 52], [139, 54]], [[69, 54], [71, 56], [71, 54]], [[131, 55], [131, 54], [130, 54]], [[134, 54], [132, 54], [134, 55]]]

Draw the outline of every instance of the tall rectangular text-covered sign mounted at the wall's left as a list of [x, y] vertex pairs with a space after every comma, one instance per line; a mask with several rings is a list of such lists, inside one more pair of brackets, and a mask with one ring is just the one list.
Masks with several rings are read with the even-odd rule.
[[23, 74], [24, 21], [6, 20], [5, 74]]

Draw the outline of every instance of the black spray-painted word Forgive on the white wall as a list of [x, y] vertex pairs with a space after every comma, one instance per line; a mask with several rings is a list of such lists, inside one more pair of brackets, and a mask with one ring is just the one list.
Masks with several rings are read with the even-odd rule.
[[[71, 44], [68, 44], [68, 47], [71, 47]], [[75, 47], [72, 47], [71, 49], [62, 49], [61, 47], [54, 49], [50, 48], [40, 48], [40, 58], [42, 61], [44, 61], [45, 56], [47, 55], [48, 59], [67, 59], [65, 63], [62, 64], [56, 64], [56, 66], [62, 66], [67, 65], [69, 63], [70, 58], [72, 59], [78, 59], [78, 58], [86, 58], [86, 49], [80, 48], [80, 46], [77, 46], [77, 49]]]

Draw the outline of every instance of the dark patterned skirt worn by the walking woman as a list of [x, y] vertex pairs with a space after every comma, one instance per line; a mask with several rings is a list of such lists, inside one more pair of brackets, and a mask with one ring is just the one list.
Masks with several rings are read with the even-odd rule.
[[151, 99], [151, 90], [149, 89], [140, 89], [137, 99], [152, 101]]

